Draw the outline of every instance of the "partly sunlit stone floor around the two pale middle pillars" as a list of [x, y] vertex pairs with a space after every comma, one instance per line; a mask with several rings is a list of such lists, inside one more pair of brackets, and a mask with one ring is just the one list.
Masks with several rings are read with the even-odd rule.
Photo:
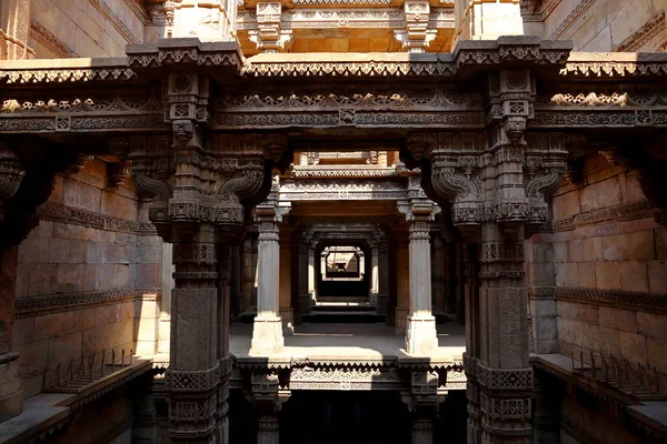
[[[231, 326], [230, 347], [237, 357], [248, 356], [252, 324], [235, 323]], [[450, 356], [460, 361], [466, 350], [466, 331], [462, 325], [438, 325], [439, 347], [434, 355]], [[405, 347], [404, 334], [381, 323], [317, 323], [303, 324], [285, 336], [281, 355], [292, 357], [350, 356], [366, 360], [396, 359]]]

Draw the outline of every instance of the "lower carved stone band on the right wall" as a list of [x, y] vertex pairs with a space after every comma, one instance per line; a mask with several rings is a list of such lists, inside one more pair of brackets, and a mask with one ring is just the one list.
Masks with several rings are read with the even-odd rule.
[[667, 315], [667, 294], [651, 294], [621, 290], [538, 286], [528, 289], [530, 299], [551, 299], [577, 304], [607, 306], [643, 313]]

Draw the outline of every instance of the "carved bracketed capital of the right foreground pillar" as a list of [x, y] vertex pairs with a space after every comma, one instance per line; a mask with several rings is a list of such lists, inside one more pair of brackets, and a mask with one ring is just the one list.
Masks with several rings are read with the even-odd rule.
[[[452, 223], [459, 229], [479, 232], [482, 223], [495, 222], [516, 230], [521, 224], [535, 228], [549, 221], [548, 198], [567, 167], [570, 137], [524, 134], [521, 124], [514, 125], [529, 118], [525, 114], [531, 103], [527, 74], [515, 73], [517, 88], [522, 84], [527, 89], [515, 97], [516, 103], [508, 99], [509, 93], [497, 95], [504, 98], [498, 99], [498, 109], [508, 112], [496, 115], [490, 111], [495, 117], [489, 120], [488, 133], [415, 134], [409, 139], [412, 151], [430, 162], [434, 190], [451, 203]], [[506, 84], [515, 82], [505, 74], [500, 78]]]

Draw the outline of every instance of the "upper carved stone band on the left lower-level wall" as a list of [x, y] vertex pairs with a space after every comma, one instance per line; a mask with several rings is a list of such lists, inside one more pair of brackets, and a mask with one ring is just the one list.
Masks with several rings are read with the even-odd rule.
[[42, 221], [137, 235], [157, 235], [156, 229], [150, 222], [135, 222], [127, 219], [112, 218], [110, 215], [76, 209], [59, 203], [44, 203], [37, 209], [37, 213]]

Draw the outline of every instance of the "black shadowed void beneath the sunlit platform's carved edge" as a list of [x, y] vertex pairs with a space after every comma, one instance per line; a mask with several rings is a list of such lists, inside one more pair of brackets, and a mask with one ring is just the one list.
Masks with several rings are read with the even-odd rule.
[[[230, 396], [230, 441], [255, 444], [252, 405]], [[409, 444], [411, 415], [398, 392], [293, 392], [280, 412], [281, 444]], [[452, 392], [434, 412], [436, 442], [466, 442], [466, 394]]]

